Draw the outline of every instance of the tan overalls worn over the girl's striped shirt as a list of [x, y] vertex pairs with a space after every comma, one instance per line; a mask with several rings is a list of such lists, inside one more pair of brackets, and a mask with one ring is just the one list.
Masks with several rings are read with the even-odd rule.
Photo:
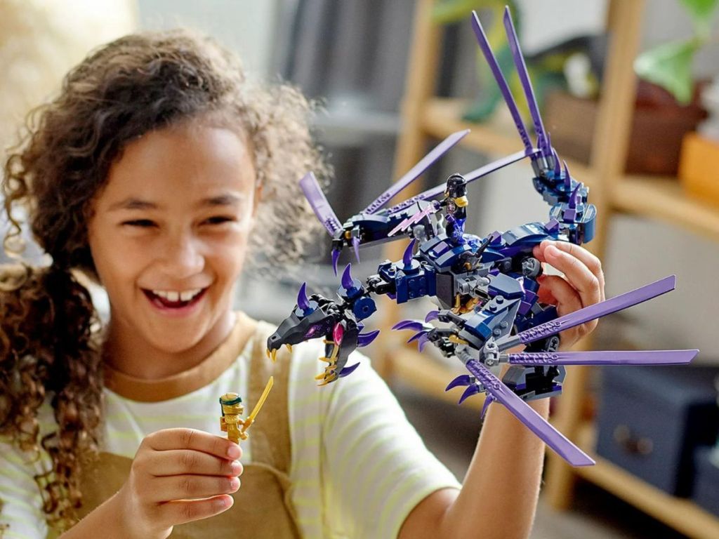
[[[240, 316], [243, 316], [240, 314]], [[250, 326], [247, 326], [250, 324]], [[272, 538], [293, 539], [301, 535], [296, 525], [296, 516], [290, 502], [290, 479], [288, 476], [291, 459], [290, 427], [288, 420], [288, 376], [290, 354], [284, 349], [272, 363], [265, 355], [267, 337], [273, 326], [255, 322], [244, 317], [237, 326], [244, 326], [244, 332], [252, 332], [251, 369], [247, 410], [257, 402], [270, 375], [275, 385], [270, 392], [257, 421], [249, 429], [252, 446], [252, 464], [245, 464], [240, 477], [242, 487], [233, 494], [234, 505], [227, 511], [196, 522], [175, 526], [170, 538]], [[237, 344], [232, 357], [242, 350], [247, 335], [242, 338], [236, 327], [224, 346]], [[232, 342], [234, 339], [235, 343]], [[229, 357], [229, 356], [228, 356]], [[228, 365], [229, 366], [229, 365]], [[109, 382], [109, 383], [108, 383]], [[112, 381], [106, 380], [111, 387]], [[232, 390], [233, 388], [228, 388]], [[218, 395], [219, 397], [219, 395]], [[219, 408], [218, 408], [219, 417]], [[101, 453], [99, 461], [91, 466], [82, 480], [83, 510], [81, 515], [93, 510], [104, 502], [127, 480], [132, 459]]]

